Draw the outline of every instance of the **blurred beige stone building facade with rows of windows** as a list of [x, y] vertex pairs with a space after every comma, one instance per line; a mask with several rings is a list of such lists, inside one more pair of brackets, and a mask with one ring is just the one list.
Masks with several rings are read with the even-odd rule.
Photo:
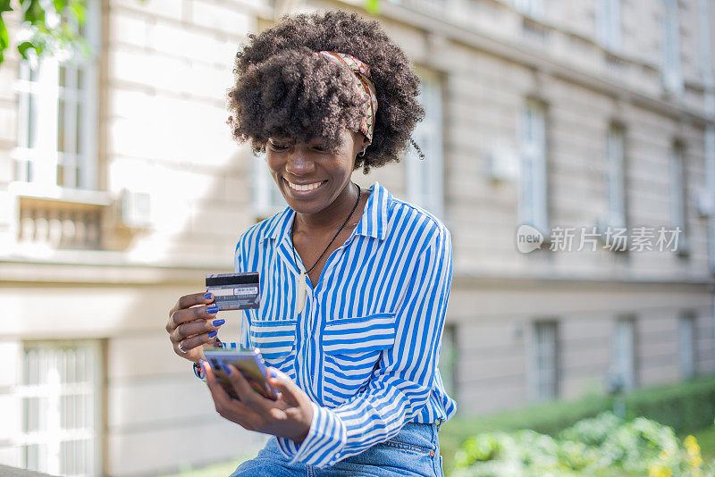
[[[90, 57], [7, 54], [1, 463], [143, 475], [263, 442], [215, 414], [164, 325], [284, 206], [225, 124], [238, 46], [283, 13], [363, 4], [94, 0]], [[383, 0], [376, 17], [422, 79], [426, 158], [354, 179], [451, 231], [459, 413], [715, 371], [715, 7]]]

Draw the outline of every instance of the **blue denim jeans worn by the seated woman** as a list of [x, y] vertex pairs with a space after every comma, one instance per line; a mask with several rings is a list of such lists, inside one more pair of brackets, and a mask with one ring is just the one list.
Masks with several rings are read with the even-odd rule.
[[307, 464], [288, 464], [275, 438], [268, 440], [256, 458], [240, 464], [231, 477], [404, 476], [442, 477], [442, 456], [437, 431], [440, 424], [407, 423], [390, 440], [375, 444], [357, 456], [318, 469]]

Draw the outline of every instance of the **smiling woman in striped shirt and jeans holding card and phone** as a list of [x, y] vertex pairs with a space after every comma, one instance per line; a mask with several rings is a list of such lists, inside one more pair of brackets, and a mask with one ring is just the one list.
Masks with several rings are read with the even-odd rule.
[[201, 360], [223, 324], [210, 294], [174, 305], [174, 351], [206, 377], [219, 414], [275, 436], [233, 475], [442, 475], [437, 431], [456, 409], [437, 369], [450, 234], [350, 179], [411, 141], [424, 115], [416, 74], [356, 14], [286, 17], [249, 39], [229, 122], [265, 151], [289, 207], [240, 237], [235, 269], [260, 272], [261, 307], [244, 314], [238, 344], [221, 346], [260, 347], [280, 397], [261, 397], [232, 366], [240, 399], [217, 385]]

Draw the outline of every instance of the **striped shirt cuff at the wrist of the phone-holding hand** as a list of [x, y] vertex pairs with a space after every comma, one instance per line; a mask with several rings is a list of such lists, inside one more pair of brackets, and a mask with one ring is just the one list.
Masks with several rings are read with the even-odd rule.
[[327, 407], [313, 406], [313, 420], [306, 439], [297, 444], [294, 440], [278, 439], [278, 447], [290, 464], [303, 463], [325, 467], [340, 460], [341, 450], [348, 441], [348, 432], [340, 417]]

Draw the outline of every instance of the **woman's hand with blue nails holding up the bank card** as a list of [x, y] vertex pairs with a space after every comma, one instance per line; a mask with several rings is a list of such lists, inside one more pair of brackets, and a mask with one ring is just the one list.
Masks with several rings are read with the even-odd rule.
[[218, 306], [210, 305], [213, 301], [211, 293], [195, 293], [184, 295], [173, 305], [166, 332], [174, 353], [198, 363], [204, 359], [203, 348], [216, 345], [216, 332], [225, 320], [216, 319]]

